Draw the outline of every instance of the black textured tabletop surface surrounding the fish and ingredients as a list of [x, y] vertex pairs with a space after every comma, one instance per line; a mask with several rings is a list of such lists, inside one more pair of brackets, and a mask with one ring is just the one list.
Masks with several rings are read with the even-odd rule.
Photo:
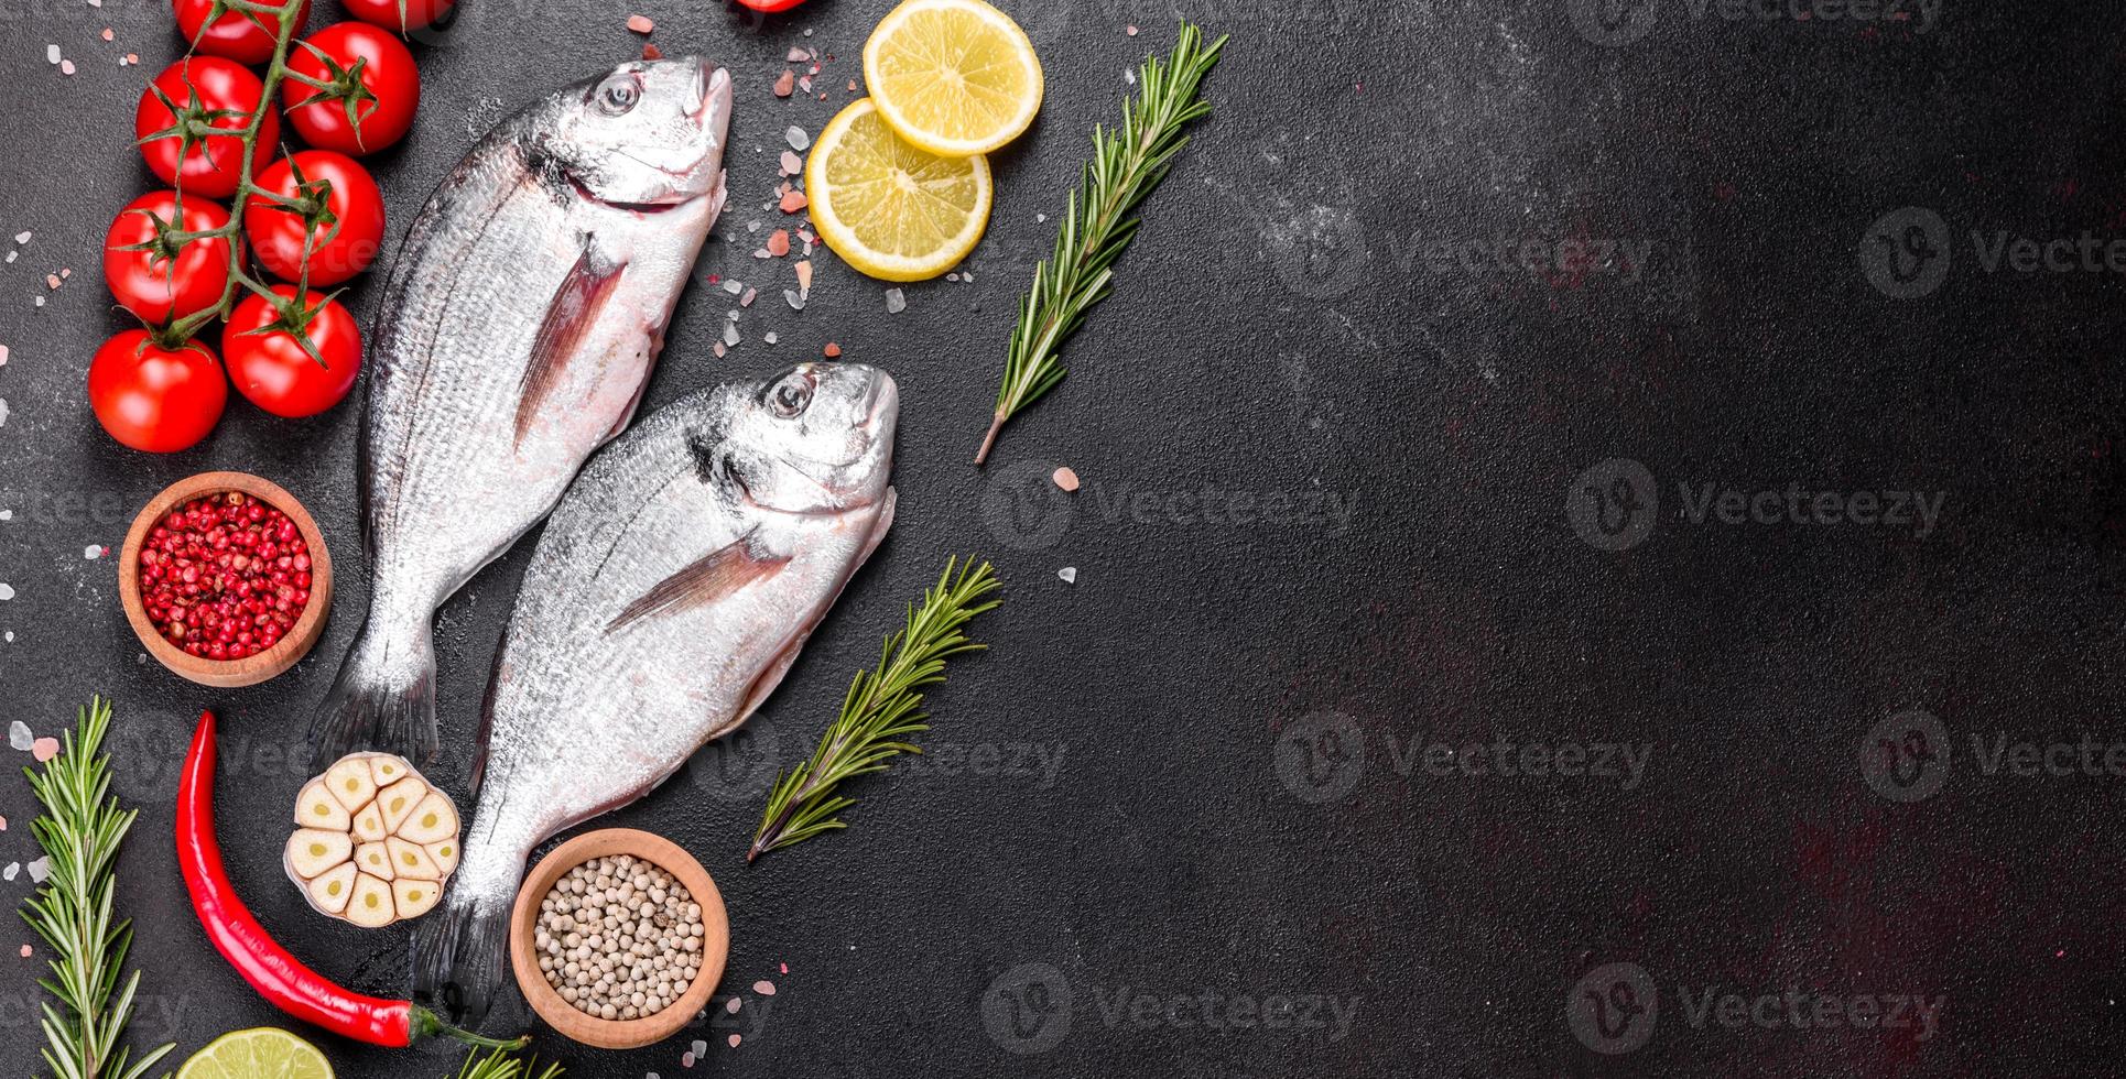
[[[887, 11], [468, 4], [419, 53], [410, 142], [376, 159], [393, 234], [506, 104], [631, 55], [621, 23], [642, 11], [665, 51], [738, 74], [733, 206], [699, 270], [748, 280], [782, 127], [816, 132], [848, 98]], [[723, 361], [708, 344], [727, 297], [682, 302], [651, 406], [836, 340], [901, 382], [901, 514], [750, 729], [602, 822], [672, 835], [716, 875], [742, 1011], [631, 1054], [542, 1049], [585, 1079], [680, 1075], [695, 1037], [695, 1071], [729, 1075], [2115, 1073], [2122, 777], [2009, 775], [1973, 746], [2126, 737], [2120, 274], [1988, 268], [1973, 234], [2126, 238], [2126, 11], [1178, 0], [1235, 36], [1218, 115], [1150, 202], [1072, 378], [984, 474], [967, 459], [1012, 299], [1052, 236], [1035, 215], [1061, 206], [1123, 70], [1171, 36], [1167, 0], [1006, 6], [1042, 49], [1048, 102], [997, 157], [972, 285], [910, 287], [889, 316], [880, 285], [821, 257], [799, 314], [772, 299], [778, 266]], [[0, 13], [0, 236], [36, 234], [0, 268], [0, 712], [43, 735], [91, 692], [119, 703], [119, 792], [142, 805], [119, 888], [142, 928], [140, 1037], [189, 1054], [283, 1022], [208, 949], [172, 867], [174, 767], [202, 705], [225, 714], [221, 835], [242, 892], [321, 971], [398, 994], [404, 930], [313, 915], [276, 854], [306, 775], [285, 750], [366, 597], [357, 410], [283, 423], [232, 397], [210, 442], [162, 459], [96, 429], [83, 370], [123, 325], [98, 242], [149, 183], [130, 117], [176, 38], [149, 0]], [[806, 28], [836, 55], [829, 100], [774, 100]], [[81, 72], [49, 68], [47, 42]], [[1877, 225], [1907, 206], [1935, 217]], [[1533, 272], [1524, 240], [1607, 257]], [[72, 280], [32, 308], [62, 266]], [[364, 316], [376, 293], [351, 293]], [[1048, 497], [1046, 463], [1086, 489]], [[317, 652], [242, 692], [145, 663], [115, 565], [83, 559], [206, 467], [293, 489], [342, 567]], [[1924, 535], [1694, 523], [1680, 489], [1703, 484], [1773, 491], [1782, 514], [1790, 484], [1922, 491], [1941, 512]], [[1597, 510], [1643, 542], [1605, 550]], [[850, 833], [744, 867], [772, 769], [969, 548], [997, 559], [1008, 601], [978, 624], [995, 650], [935, 695], [927, 741], [946, 752], [861, 784]], [[440, 616], [453, 750], [432, 775], [459, 790], [527, 550]], [[1907, 729], [1935, 752], [1903, 760], [1918, 782], [1865, 782], [1862, 748]], [[1631, 743], [1650, 763], [1639, 782], [1424, 767], [1427, 746], [1501, 739]], [[1061, 765], [1027, 767], [1033, 750]], [[28, 860], [19, 780], [0, 777], [0, 862]], [[40, 958], [0, 945], [0, 1058], [23, 1073]], [[763, 977], [772, 998], [750, 990]], [[1588, 992], [1614, 1003], [1616, 983], [1658, 1011], [1605, 1037]], [[1788, 988], [1941, 1005], [1933, 1028], [1890, 1030], [1801, 1028], [1784, 1005], [1765, 1026], [1692, 1015], [1707, 990]], [[1205, 1028], [1205, 998], [1220, 1015], [1290, 998], [1314, 1022]], [[321, 1045], [351, 1077], [451, 1066]]]

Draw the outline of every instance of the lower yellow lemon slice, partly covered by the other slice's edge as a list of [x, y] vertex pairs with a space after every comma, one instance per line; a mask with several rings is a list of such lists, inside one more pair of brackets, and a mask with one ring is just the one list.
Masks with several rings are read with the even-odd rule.
[[[921, 2], [921, 0], [918, 0]], [[827, 121], [804, 164], [812, 227], [844, 261], [884, 280], [933, 278], [989, 227], [989, 159], [901, 142], [872, 98]]]

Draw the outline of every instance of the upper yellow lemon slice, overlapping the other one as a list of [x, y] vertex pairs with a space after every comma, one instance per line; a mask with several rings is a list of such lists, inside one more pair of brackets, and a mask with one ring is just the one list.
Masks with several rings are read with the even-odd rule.
[[901, 138], [944, 157], [989, 153], [1042, 110], [1033, 42], [982, 0], [908, 0], [887, 13], [863, 42], [863, 81]]

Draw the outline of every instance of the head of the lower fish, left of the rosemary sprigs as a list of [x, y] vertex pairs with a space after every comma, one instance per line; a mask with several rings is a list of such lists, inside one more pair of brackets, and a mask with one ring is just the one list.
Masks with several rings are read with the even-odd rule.
[[838, 514], [884, 497], [901, 412], [891, 374], [865, 363], [799, 363], [729, 393], [721, 472], [746, 501]]

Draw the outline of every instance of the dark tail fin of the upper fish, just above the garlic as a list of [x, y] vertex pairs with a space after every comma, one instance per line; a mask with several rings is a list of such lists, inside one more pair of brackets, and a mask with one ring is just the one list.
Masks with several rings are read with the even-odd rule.
[[378, 622], [355, 635], [317, 720], [310, 748], [332, 763], [383, 750], [425, 765], [436, 758], [436, 639], [423, 614], [412, 624]]

